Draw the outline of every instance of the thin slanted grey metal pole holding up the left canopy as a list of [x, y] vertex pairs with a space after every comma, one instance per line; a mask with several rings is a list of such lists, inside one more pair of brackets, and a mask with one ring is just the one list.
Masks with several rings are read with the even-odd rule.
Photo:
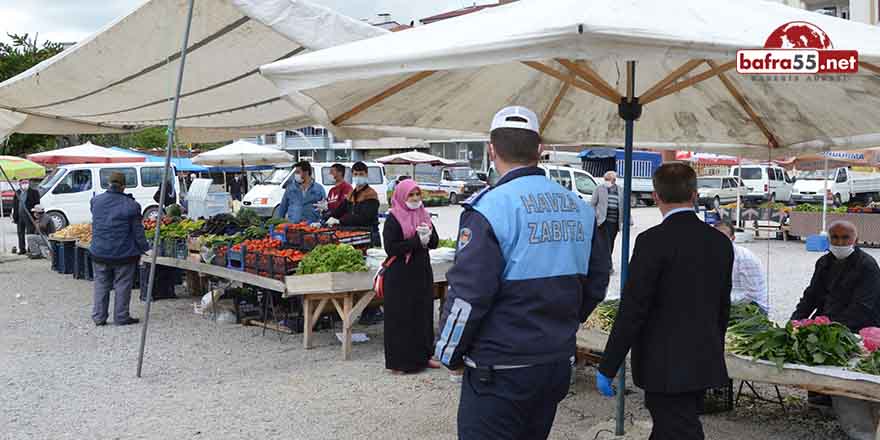
[[171, 151], [174, 148], [174, 130], [177, 127], [177, 109], [180, 104], [180, 89], [183, 86], [183, 71], [186, 67], [186, 52], [189, 46], [189, 31], [192, 27], [193, 8], [195, 0], [189, 0], [188, 11], [186, 15], [186, 26], [183, 31], [183, 46], [180, 49], [180, 68], [177, 71], [177, 90], [174, 93], [174, 103], [171, 108], [171, 122], [168, 124], [168, 142], [165, 145], [165, 170], [162, 178], [162, 186], [159, 191], [159, 214], [156, 217], [156, 232], [153, 234], [153, 250], [150, 252], [150, 277], [147, 283], [147, 304], [144, 311], [144, 328], [141, 331], [141, 346], [138, 352], [137, 377], [141, 377], [141, 371], [144, 365], [144, 346], [147, 342], [147, 328], [150, 324], [150, 305], [153, 302], [153, 287], [156, 285], [156, 257], [159, 255], [159, 230], [162, 228], [162, 215], [165, 213], [165, 192], [168, 187], [168, 174], [171, 170]]

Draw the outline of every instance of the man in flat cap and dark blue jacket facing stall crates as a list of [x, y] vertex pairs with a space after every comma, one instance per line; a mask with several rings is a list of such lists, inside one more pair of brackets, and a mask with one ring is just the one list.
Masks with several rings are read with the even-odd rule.
[[128, 307], [141, 255], [150, 249], [144, 235], [141, 205], [125, 191], [125, 175], [110, 175], [110, 187], [92, 199], [92, 261], [95, 270], [95, 305], [92, 321], [107, 324], [110, 290], [114, 299], [113, 323], [137, 324]]

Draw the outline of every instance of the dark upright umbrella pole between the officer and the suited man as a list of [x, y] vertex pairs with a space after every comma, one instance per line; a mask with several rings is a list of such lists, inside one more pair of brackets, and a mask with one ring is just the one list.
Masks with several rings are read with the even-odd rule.
[[[624, 120], [624, 160], [623, 160], [623, 207], [622, 225], [620, 233], [620, 295], [623, 297], [623, 287], [629, 275], [629, 243], [630, 243], [630, 218], [632, 207], [630, 196], [632, 194], [632, 156], [633, 156], [633, 131], [635, 121], [642, 115], [642, 105], [635, 96], [636, 62], [626, 62], [626, 97], [618, 106], [618, 114]], [[626, 412], [626, 361], [617, 372], [617, 428], [616, 435], [624, 435], [624, 418]]]

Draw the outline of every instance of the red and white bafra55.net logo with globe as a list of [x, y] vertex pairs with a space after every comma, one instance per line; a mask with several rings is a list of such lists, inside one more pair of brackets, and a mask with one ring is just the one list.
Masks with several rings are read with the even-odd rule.
[[793, 21], [779, 26], [764, 49], [736, 52], [736, 71], [744, 74], [840, 74], [859, 72], [859, 52], [834, 49], [819, 26]]

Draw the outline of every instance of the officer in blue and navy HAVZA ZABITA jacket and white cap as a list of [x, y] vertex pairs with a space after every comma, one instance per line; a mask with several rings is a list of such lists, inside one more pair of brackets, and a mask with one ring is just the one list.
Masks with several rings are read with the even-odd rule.
[[465, 367], [461, 439], [547, 438], [568, 393], [575, 334], [605, 298], [608, 245], [593, 208], [538, 168], [538, 118], [499, 111], [501, 176], [464, 203], [435, 356]]

